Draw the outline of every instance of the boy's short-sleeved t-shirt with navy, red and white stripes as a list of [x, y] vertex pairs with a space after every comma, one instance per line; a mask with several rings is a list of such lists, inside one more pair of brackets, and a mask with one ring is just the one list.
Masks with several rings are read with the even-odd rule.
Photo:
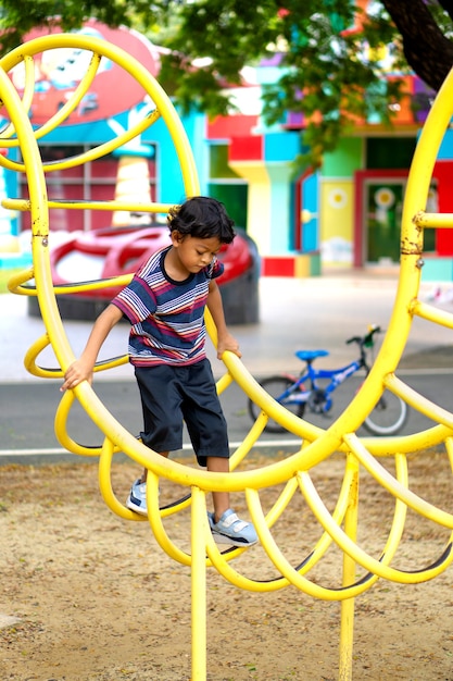
[[164, 269], [169, 248], [151, 256], [112, 300], [131, 324], [128, 351], [135, 367], [183, 367], [206, 356], [204, 308], [210, 282], [224, 265], [214, 258], [197, 274], [175, 282]]

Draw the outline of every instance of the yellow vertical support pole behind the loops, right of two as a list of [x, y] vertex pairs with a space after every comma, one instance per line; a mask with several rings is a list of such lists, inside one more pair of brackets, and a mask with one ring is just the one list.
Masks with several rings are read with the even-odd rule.
[[[344, 532], [353, 541], [357, 536], [358, 520], [358, 463], [355, 457], [348, 455], [347, 468], [352, 469], [353, 475], [349, 492], [348, 510], [344, 516]], [[355, 581], [355, 561], [343, 554], [343, 586], [349, 586]], [[340, 626], [340, 665], [339, 681], [352, 679], [352, 649], [354, 643], [354, 598], [341, 602]]]

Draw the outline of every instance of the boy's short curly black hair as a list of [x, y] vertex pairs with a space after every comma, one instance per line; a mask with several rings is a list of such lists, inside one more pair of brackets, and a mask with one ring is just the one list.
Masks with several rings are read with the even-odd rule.
[[168, 211], [169, 231], [181, 236], [201, 239], [216, 236], [221, 244], [231, 244], [236, 236], [234, 224], [225, 206], [207, 196], [193, 196]]

